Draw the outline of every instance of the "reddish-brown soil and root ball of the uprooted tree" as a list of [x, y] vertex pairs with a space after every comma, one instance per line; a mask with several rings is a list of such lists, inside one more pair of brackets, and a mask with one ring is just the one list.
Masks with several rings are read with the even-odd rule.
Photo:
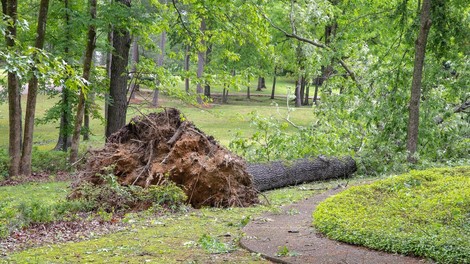
[[195, 208], [249, 206], [258, 202], [246, 164], [205, 135], [174, 108], [134, 117], [93, 151], [79, 182], [103, 184], [99, 174], [114, 166], [124, 186], [147, 188], [167, 180], [180, 186]]

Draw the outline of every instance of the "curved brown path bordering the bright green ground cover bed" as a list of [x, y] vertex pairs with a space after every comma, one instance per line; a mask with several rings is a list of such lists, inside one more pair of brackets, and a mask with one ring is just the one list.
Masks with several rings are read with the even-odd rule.
[[[389, 254], [330, 240], [311, 226], [312, 212], [318, 203], [344, 189], [329, 190], [282, 208], [278, 214], [267, 213], [243, 228], [242, 247], [260, 253], [278, 263], [360, 263], [423, 264], [426, 260]], [[278, 257], [287, 248], [289, 256]]]

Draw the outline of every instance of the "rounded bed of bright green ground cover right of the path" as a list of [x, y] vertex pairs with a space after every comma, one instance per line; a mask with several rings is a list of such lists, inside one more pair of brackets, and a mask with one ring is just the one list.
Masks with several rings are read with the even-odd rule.
[[328, 237], [440, 263], [470, 263], [470, 167], [411, 171], [322, 202]]

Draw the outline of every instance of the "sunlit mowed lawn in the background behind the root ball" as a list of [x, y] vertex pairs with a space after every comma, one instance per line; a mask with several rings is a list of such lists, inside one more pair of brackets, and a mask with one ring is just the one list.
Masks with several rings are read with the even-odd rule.
[[[254, 91], [250, 100], [241, 94], [232, 95], [229, 97], [228, 104], [218, 104], [217, 99], [213, 103], [209, 103], [203, 107], [197, 107], [190, 104], [181, 102], [178, 99], [170, 98], [162, 95], [160, 99], [160, 107], [176, 107], [178, 108], [190, 121], [194, 122], [197, 127], [202, 129], [206, 134], [214, 136], [223, 145], [228, 145], [231, 138], [237, 131], [242, 131], [243, 135], [251, 135], [255, 132], [255, 128], [250, 126], [250, 113], [257, 112], [262, 116], [275, 116], [282, 120], [289, 115], [289, 119], [298, 125], [308, 125], [313, 121], [313, 111], [311, 107], [302, 107], [294, 109], [292, 102], [287, 107], [287, 99], [285, 96], [286, 87], [288, 83], [284, 81], [284, 85], [280, 85], [278, 92], [279, 98], [271, 100], [269, 95], [271, 89], [264, 89], [261, 92]], [[269, 86], [268, 86], [269, 87]], [[151, 95], [149, 92], [142, 92], [137, 97], [138, 103], [131, 104], [128, 110], [128, 121], [142, 113], [149, 113], [153, 111], [161, 111], [149, 107], [149, 100]], [[36, 120], [44, 117], [46, 111], [57, 103], [59, 97], [49, 97], [41, 94], [38, 96], [38, 105], [36, 111]], [[23, 112], [26, 104], [26, 96], [22, 98]], [[101, 105], [101, 114], [104, 115], [104, 102], [98, 101]], [[288, 110], [290, 109], [290, 110]], [[6, 102], [0, 104], [0, 148], [7, 148], [8, 146], [8, 104]], [[83, 145], [99, 147], [104, 143], [104, 127], [105, 124], [102, 120], [93, 119], [91, 121], [91, 140]], [[59, 135], [59, 120], [51, 121], [46, 124], [36, 123], [34, 134], [34, 146], [42, 150], [49, 150], [54, 148]], [[83, 146], [82, 145], [82, 146]]]

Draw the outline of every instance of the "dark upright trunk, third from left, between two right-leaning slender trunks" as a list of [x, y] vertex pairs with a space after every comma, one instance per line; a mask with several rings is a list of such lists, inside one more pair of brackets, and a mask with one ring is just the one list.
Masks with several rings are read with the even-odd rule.
[[[65, 40], [69, 41], [72, 36], [70, 32], [70, 10], [69, 10], [69, 0], [64, 0], [64, 11], [65, 11]], [[69, 43], [66, 43], [64, 48], [64, 55], [65, 58], [69, 56]], [[67, 77], [68, 78], [68, 77]], [[59, 128], [59, 139], [57, 140], [57, 145], [55, 146], [55, 150], [62, 150], [67, 151], [70, 147], [72, 142], [72, 129], [71, 129], [71, 122], [72, 122], [72, 93], [70, 89], [66, 86], [62, 86], [62, 107], [60, 113], [60, 128]]]

